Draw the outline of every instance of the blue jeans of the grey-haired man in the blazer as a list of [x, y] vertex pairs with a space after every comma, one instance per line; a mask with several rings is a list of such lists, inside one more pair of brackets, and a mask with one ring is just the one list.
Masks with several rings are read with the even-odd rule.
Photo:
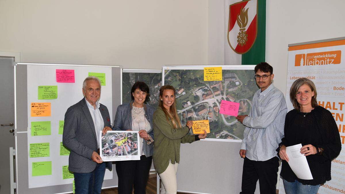
[[97, 164], [95, 170], [90, 173], [73, 173], [78, 194], [100, 194], [104, 174], [106, 172], [106, 163]]

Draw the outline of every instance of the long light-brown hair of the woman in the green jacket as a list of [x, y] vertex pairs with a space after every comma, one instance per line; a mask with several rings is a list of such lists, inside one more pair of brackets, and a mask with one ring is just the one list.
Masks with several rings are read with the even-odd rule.
[[[170, 86], [170, 85], [164, 85], [162, 87], [160, 87], [159, 89], [159, 97], [162, 98], [163, 96], [163, 92], [164, 90], [172, 90], [174, 91], [174, 96], [175, 96], [175, 88]], [[163, 106], [163, 100], [159, 101], [158, 106], [160, 106], [162, 108], [162, 110], [164, 111], [165, 114], [165, 118], [167, 119], [167, 122], [174, 127], [174, 129], [177, 128], [181, 128], [181, 122], [180, 119], [177, 115], [177, 111], [176, 111], [176, 101], [174, 100], [174, 103], [170, 106], [170, 110], [167, 110], [164, 106]], [[169, 119], [171, 119], [171, 123], [169, 122]]]

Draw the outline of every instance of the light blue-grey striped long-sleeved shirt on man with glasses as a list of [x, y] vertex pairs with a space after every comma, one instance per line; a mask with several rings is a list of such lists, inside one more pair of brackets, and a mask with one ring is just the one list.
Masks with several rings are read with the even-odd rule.
[[271, 84], [256, 91], [250, 114], [243, 120], [244, 138], [241, 149], [253, 161], [266, 161], [277, 156], [276, 149], [284, 136], [287, 112], [283, 93]]

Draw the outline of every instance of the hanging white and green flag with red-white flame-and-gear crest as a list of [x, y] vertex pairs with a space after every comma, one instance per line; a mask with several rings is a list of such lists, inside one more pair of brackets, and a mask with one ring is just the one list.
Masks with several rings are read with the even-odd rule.
[[265, 61], [266, 0], [224, 0], [225, 65]]

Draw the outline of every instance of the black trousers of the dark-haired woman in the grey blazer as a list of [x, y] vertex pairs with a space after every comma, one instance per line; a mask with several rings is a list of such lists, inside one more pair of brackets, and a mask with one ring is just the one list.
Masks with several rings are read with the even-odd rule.
[[116, 162], [116, 173], [119, 179], [119, 194], [145, 194], [149, 177], [152, 156], [142, 155], [140, 160]]

